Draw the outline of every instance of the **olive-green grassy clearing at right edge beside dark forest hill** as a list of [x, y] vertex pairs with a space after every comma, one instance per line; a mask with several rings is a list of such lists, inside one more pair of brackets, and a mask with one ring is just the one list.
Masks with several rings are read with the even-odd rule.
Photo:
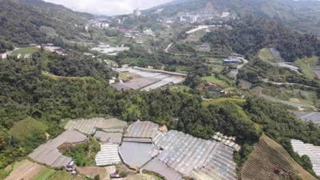
[[297, 59], [295, 65], [302, 70], [302, 74], [306, 75], [308, 78], [314, 78], [316, 75], [312, 70], [317, 68], [317, 61], [318, 57]]

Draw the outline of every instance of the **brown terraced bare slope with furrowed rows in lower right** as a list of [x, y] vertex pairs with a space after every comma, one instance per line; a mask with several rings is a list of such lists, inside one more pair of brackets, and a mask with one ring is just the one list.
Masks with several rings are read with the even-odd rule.
[[278, 175], [274, 172], [276, 168], [284, 169], [286, 175], [292, 177], [316, 179], [299, 166], [282, 146], [267, 136], [261, 137], [254, 151], [250, 153], [241, 170], [241, 179], [278, 179]]

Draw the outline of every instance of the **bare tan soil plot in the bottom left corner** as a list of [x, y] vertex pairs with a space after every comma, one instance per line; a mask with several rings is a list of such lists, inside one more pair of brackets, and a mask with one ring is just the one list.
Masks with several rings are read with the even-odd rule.
[[34, 179], [34, 177], [38, 176], [44, 170], [46, 170], [46, 167], [26, 160], [25, 162], [23, 162], [23, 164], [21, 164], [17, 168], [14, 168], [14, 170], [7, 178], [5, 178], [5, 180]]

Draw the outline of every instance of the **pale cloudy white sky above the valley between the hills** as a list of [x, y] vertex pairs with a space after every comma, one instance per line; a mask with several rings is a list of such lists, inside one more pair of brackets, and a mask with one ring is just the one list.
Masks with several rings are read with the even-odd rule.
[[44, 0], [46, 2], [64, 5], [79, 12], [89, 12], [98, 15], [131, 14], [135, 8], [148, 9], [172, 0]]

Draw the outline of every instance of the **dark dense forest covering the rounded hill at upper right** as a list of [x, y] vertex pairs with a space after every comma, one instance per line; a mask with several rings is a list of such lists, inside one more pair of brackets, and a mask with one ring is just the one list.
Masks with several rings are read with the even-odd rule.
[[274, 47], [289, 62], [297, 58], [320, 55], [320, 42], [316, 35], [302, 34], [289, 29], [272, 18], [253, 15], [231, 20], [228, 25], [202, 37], [213, 47], [227, 46], [242, 55], [256, 55], [258, 50]]

